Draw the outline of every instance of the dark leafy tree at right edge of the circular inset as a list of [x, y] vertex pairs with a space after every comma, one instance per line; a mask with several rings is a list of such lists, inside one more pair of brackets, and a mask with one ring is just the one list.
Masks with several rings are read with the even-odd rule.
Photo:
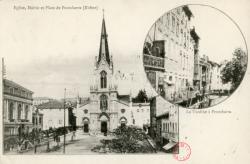
[[231, 83], [231, 91], [233, 92], [243, 80], [247, 69], [247, 55], [241, 48], [237, 48], [233, 52], [233, 59], [225, 64], [221, 71], [222, 83]]

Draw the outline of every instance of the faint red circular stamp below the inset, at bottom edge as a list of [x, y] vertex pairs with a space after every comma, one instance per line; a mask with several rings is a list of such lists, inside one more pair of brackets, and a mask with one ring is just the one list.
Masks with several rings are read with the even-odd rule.
[[185, 142], [179, 142], [176, 147], [178, 150], [173, 154], [174, 158], [178, 161], [186, 161], [191, 155], [191, 147]]

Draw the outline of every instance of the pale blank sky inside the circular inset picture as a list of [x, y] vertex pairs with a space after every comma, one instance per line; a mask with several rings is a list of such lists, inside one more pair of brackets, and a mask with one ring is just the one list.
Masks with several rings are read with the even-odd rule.
[[[244, 38], [236, 24], [218, 9], [189, 5], [193, 13], [191, 27], [200, 36], [200, 54], [217, 63], [230, 60], [236, 48], [246, 52]], [[231, 18], [232, 19], [232, 18]]]

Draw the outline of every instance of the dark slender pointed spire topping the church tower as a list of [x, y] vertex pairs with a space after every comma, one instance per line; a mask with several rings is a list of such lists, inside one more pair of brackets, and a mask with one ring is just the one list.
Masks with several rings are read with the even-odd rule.
[[106, 31], [106, 26], [105, 26], [104, 10], [103, 10], [102, 30], [101, 30], [98, 63], [102, 59], [105, 59], [107, 61], [107, 63], [110, 65], [109, 48], [108, 48], [108, 34]]

